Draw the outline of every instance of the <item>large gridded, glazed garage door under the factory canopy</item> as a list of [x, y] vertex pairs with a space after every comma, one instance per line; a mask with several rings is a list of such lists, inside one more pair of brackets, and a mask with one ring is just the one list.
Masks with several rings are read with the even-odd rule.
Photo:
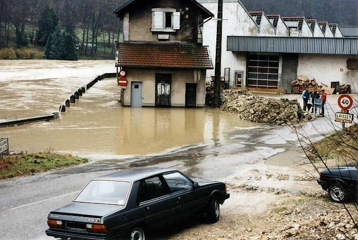
[[249, 54], [247, 87], [277, 89], [279, 59], [278, 55]]

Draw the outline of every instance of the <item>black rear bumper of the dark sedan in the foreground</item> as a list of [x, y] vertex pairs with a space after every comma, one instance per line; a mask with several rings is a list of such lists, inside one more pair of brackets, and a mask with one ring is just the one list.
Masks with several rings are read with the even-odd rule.
[[88, 234], [88, 233], [75, 233], [75, 232], [71, 232], [71, 231], [66, 231], [66, 230], [52, 230], [52, 229], [47, 229], [46, 234], [48, 236], [53, 236], [55, 238], [61, 238], [61, 239], [69, 239], [71, 238], [71, 240], [80, 240], [80, 239], [91, 239], [91, 240], [108, 240], [108, 239], [114, 239], [114, 238], [118, 238], [118, 235], [102, 235], [102, 234]]

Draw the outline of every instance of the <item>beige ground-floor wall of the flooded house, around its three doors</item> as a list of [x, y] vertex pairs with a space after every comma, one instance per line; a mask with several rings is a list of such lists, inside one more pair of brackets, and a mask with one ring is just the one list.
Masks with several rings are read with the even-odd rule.
[[[205, 107], [205, 73], [200, 70], [196, 81], [196, 107]], [[127, 89], [124, 90], [124, 106], [130, 106], [131, 82], [142, 82], [142, 106], [155, 106], [155, 74], [171, 74], [171, 106], [185, 107], [186, 83], [195, 83], [194, 70], [163, 68], [127, 68]]]

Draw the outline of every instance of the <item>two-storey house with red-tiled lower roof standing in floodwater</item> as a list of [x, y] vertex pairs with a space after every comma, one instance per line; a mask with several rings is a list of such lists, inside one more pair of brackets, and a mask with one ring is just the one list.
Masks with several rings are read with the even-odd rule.
[[116, 57], [128, 81], [123, 105], [205, 107], [213, 63], [203, 25], [214, 15], [194, 0], [130, 0], [114, 12], [123, 19]]

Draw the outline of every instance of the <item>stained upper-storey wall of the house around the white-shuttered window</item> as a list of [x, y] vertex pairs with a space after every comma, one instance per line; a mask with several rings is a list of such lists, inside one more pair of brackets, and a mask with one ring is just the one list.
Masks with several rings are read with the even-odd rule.
[[[152, 31], [152, 9], [174, 8], [181, 12], [180, 29], [174, 32]], [[198, 42], [198, 25], [203, 22], [203, 15], [197, 6], [190, 1], [153, 0], [140, 1], [128, 11], [129, 27], [128, 41], [150, 41], [157, 42], [158, 35], [169, 35], [169, 41], [176, 42]], [[124, 23], [126, 21], [124, 20]]]

